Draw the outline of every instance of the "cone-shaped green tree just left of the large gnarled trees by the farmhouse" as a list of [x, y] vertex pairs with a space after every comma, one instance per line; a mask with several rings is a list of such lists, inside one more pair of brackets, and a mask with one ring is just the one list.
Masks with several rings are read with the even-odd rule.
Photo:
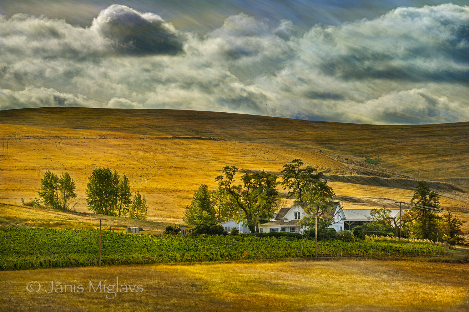
[[192, 202], [186, 205], [182, 220], [195, 227], [217, 223], [215, 201], [206, 184], [200, 184], [198, 190], [194, 192]]

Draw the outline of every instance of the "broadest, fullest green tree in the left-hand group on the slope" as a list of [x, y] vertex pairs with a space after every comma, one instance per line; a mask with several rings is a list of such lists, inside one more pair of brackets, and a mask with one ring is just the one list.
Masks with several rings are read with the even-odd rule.
[[85, 190], [88, 209], [94, 213], [114, 216], [117, 213], [119, 175], [109, 168], [96, 168], [88, 177]]

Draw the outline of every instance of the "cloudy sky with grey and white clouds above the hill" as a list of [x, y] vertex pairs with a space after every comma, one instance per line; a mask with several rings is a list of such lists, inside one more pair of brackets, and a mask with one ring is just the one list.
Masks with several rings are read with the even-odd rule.
[[0, 109], [469, 121], [466, 1], [156, 2], [2, 1]]

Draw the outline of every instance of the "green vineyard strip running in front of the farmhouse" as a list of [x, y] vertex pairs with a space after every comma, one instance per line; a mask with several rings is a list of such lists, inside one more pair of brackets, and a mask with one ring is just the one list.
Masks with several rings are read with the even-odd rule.
[[[0, 270], [98, 265], [99, 231], [91, 229], [0, 229]], [[439, 244], [373, 239], [318, 242], [319, 257], [443, 256]], [[293, 237], [157, 236], [102, 232], [101, 264], [143, 264], [309, 258], [315, 242]]]

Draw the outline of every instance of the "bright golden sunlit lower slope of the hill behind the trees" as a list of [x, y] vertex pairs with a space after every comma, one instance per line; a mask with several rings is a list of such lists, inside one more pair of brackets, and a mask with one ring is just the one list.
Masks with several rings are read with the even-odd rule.
[[[307, 149], [285, 146], [195, 139], [161, 139], [95, 130], [1, 125], [0, 135], [22, 133], [21, 141], [9, 140], [8, 157], [1, 163], [0, 201], [20, 204], [21, 198], [38, 197], [37, 190], [46, 170], [68, 172], [76, 182], [87, 211], [84, 190], [93, 168], [110, 167], [131, 180], [150, 205], [150, 220], [181, 222], [182, 211], [200, 183], [215, 188], [214, 178], [225, 165], [280, 172], [293, 158], [333, 174], [347, 173], [338, 160]], [[106, 137], [106, 138], [104, 138]], [[410, 190], [331, 182], [337, 194], [409, 200]], [[78, 199], [77, 198], [77, 199]], [[468, 204], [443, 198], [442, 204], [468, 208]]]

